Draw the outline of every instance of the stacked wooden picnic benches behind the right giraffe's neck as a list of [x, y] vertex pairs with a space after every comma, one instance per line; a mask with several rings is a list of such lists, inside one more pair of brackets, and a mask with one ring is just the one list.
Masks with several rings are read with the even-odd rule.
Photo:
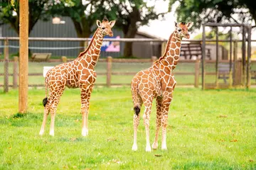
[[[206, 58], [210, 58], [210, 49], [206, 48]], [[185, 60], [191, 60], [195, 56], [196, 59], [201, 59], [202, 57], [202, 45], [201, 43], [188, 43], [181, 45], [181, 57], [185, 57]]]

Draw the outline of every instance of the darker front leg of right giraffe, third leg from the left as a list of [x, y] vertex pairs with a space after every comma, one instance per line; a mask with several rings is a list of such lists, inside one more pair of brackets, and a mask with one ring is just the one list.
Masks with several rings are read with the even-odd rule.
[[162, 98], [156, 98], [156, 136], [154, 139], [154, 143], [152, 145], [153, 149], [157, 149], [158, 147], [158, 138], [159, 138], [159, 130], [161, 127], [161, 108], [162, 108]]

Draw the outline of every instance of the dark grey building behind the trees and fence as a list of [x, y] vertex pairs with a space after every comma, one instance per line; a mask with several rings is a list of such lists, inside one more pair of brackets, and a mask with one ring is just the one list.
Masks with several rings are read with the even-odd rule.
[[[75, 27], [73, 22], [68, 17], [63, 17], [59, 24], [53, 24], [54, 20], [50, 21], [38, 21], [31, 31], [29, 37], [39, 38], [77, 38]], [[114, 38], [124, 38], [124, 34], [121, 30], [113, 29]], [[2, 37], [17, 37], [16, 32], [9, 25], [0, 27], [0, 36]], [[135, 38], [156, 38], [146, 33], [138, 32]], [[2, 43], [3, 44], [3, 43]], [[0, 45], [2, 45], [0, 42]], [[10, 41], [9, 48], [10, 54], [16, 54], [18, 52], [18, 41]], [[116, 45], [113, 43], [112, 45]], [[124, 42], [119, 43], [119, 48], [107, 50], [110, 46], [110, 42], [104, 42], [102, 45], [101, 57], [120, 57], [123, 55]], [[63, 42], [63, 41], [30, 41], [29, 47], [31, 52], [50, 52], [52, 56], [67, 56], [76, 57], [80, 53], [79, 42]], [[116, 47], [116, 46], [115, 46]], [[58, 49], [61, 48], [61, 49]], [[133, 55], [139, 58], [149, 58], [152, 55], [159, 57], [161, 55], [161, 42], [134, 42]], [[0, 52], [3, 52], [3, 48], [0, 47]]]

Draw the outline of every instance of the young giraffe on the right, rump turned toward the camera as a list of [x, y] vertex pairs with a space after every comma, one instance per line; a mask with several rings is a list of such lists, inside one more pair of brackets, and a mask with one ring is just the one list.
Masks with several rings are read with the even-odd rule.
[[156, 98], [156, 135], [153, 149], [158, 147], [159, 129], [162, 126], [161, 149], [166, 150], [166, 126], [168, 121], [168, 111], [173, 98], [176, 85], [173, 69], [178, 64], [181, 50], [182, 38], [190, 38], [188, 29], [193, 26], [190, 23], [176, 23], [175, 30], [167, 42], [166, 50], [159, 60], [154, 62], [149, 69], [138, 72], [132, 79], [132, 101], [134, 103], [134, 144], [132, 150], [137, 150], [137, 128], [139, 125], [139, 112], [144, 103], [143, 114], [146, 130], [146, 152], [151, 152], [149, 143], [149, 116], [151, 113], [152, 101]]

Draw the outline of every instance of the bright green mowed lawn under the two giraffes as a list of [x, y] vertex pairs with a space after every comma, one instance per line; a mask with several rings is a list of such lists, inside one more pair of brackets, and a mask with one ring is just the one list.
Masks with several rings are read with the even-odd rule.
[[[18, 115], [18, 91], [0, 94], [0, 169], [256, 169], [256, 89], [177, 88], [169, 111], [167, 151], [145, 152], [143, 120], [132, 151], [129, 88], [95, 88], [89, 136], [82, 137], [79, 89], [66, 89], [55, 118], [55, 136], [38, 135], [44, 89], [30, 89], [28, 113]], [[143, 113], [143, 109], [142, 109]], [[154, 140], [152, 108], [150, 141]]]

